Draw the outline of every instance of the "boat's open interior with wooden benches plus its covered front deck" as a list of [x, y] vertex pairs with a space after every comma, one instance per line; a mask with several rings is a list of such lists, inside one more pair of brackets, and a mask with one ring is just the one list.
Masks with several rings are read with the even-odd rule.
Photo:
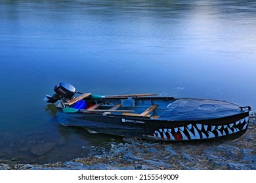
[[[88, 93], [86, 93], [88, 95]], [[211, 99], [190, 99], [173, 97], [121, 97], [93, 99], [80, 97], [87, 108], [75, 112], [93, 112], [104, 116], [123, 115], [152, 120], [207, 120], [240, 114], [243, 109], [234, 103]], [[77, 102], [77, 99], [74, 99]], [[72, 102], [59, 107], [72, 107]]]

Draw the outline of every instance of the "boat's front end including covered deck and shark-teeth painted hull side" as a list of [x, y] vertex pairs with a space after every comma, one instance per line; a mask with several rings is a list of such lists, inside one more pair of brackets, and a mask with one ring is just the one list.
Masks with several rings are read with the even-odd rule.
[[172, 123], [153, 132], [153, 137], [171, 141], [236, 139], [249, 123], [250, 107], [209, 99], [177, 99], [159, 120]]

